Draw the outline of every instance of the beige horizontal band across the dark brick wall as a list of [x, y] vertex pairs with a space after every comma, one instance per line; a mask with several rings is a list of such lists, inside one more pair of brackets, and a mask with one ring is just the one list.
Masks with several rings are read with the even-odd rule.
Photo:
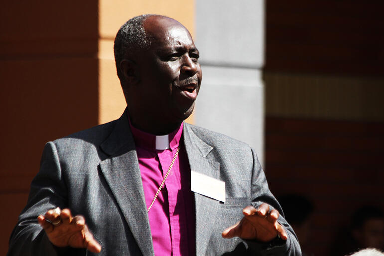
[[266, 115], [384, 121], [384, 78], [264, 73]]

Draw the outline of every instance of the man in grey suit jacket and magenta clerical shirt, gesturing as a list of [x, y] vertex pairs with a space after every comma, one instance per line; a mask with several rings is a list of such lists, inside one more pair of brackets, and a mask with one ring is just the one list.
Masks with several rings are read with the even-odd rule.
[[254, 151], [183, 123], [202, 77], [187, 29], [138, 16], [114, 50], [126, 111], [46, 144], [8, 255], [300, 255]]

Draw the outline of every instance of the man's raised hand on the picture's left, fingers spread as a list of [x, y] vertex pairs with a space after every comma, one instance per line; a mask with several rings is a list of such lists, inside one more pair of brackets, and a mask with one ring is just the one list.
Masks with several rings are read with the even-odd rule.
[[72, 217], [69, 209], [60, 211], [57, 207], [48, 210], [45, 215], [37, 217], [37, 221], [52, 244], [57, 247], [86, 248], [94, 253], [101, 251], [101, 246], [93, 238], [84, 217], [81, 215]]

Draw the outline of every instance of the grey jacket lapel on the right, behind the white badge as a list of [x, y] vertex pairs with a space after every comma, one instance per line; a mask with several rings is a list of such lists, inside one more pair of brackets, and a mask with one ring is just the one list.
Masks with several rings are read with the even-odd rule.
[[[219, 163], [207, 159], [212, 147], [202, 141], [184, 124], [184, 144], [191, 170], [219, 179]], [[205, 255], [217, 216], [219, 201], [194, 193], [196, 202], [196, 255]]]

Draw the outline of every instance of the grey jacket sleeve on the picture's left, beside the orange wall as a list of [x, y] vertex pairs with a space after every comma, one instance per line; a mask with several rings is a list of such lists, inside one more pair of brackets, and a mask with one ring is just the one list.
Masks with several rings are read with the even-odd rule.
[[68, 205], [67, 189], [56, 146], [48, 142], [43, 151], [40, 170], [32, 180], [26, 207], [13, 229], [7, 256], [85, 255], [83, 249], [54, 246], [37, 222], [40, 214], [49, 209]]

